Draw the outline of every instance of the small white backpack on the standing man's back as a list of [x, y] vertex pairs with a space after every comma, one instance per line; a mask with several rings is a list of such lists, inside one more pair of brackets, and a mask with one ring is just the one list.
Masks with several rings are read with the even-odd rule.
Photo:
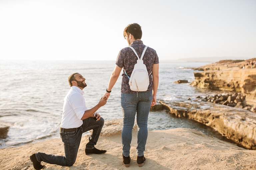
[[134, 65], [134, 69], [132, 70], [131, 77], [129, 77], [126, 71], [124, 70], [125, 74], [129, 78], [130, 89], [136, 92], [147, 91], [149, 86], [149, 75], [148, 75], [147, 67], [143, 63], [142, 59], [148, 46], [145, 46], [140, 58], [137, 52], [135, 51], [135, 49], [131, 46], [129, 47], [134, 51], [134, 53], [138, 57], [137, 64]]

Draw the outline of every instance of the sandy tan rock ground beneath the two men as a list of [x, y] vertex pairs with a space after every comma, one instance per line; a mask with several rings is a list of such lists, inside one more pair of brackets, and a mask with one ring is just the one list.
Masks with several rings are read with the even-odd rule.
[[[96, 145], [99, 149], [107, 149], [101, 155], [85, 155], [84, 149], [88, 136], [82, 137], [78, 150], [76, 163], [71, 167], [61, 167], [42, 162], [46, 169], [51, 170], [78, 170], [78, 169], [129, 169], [137, 170], [136, 147], [137, 130], [133, 131], [131, 142], [130, 167], [124, 167], [122, 162], [121, 134], [117, 129], [122, 129], [122, 119], [106, 121], [106, 128], [112, 134], [111, 122], [115, 122], [114, 135], [101, 135]], [[119, 125], [119, 126], [118, 126]], [[105, 128], [105, 126], [104, 126]], [[104, 131], [104, 130], [103, 130]], [[119, 130], [118, 130], [119, 131]], [[0, 149], [0, 169], [26, 169], [32, 170], [33, 165], [29, 155], [35, 152], [64, 155], [61, 139], [49, 139], [38, 143], [26, 144], [14, 148]], [[146, 162], [143, 169], [255, 169], [256, 151], [246, 150], [234, 144], [209, 137], [202, 132], [188, 128], [148, 131]]]

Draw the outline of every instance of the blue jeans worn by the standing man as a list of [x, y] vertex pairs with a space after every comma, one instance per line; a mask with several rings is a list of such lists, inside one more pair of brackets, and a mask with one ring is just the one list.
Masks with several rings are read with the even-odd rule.
[[144, 155], [145, 145], [148, 137], [148, 114], [153, 100], [151, 92], [138, 92], [133, 94], [121, 93], [121, 107], [123, 113], [122, 146], [123, 155], [130, 155], [130, 144], [132, 141], [132, 129], [135, 114], [137, 112], [137, 152], [136, 155]]

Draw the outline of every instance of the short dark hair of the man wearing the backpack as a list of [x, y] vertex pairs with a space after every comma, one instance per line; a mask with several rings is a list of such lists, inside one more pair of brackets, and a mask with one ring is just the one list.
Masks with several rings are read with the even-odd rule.
[[141, 26], [137, 23], [129, 24], [124, 29], [124, 39], [126, 39], [129, 34], [133, 35], [135, 40], [140, 40], [142, 37]]

